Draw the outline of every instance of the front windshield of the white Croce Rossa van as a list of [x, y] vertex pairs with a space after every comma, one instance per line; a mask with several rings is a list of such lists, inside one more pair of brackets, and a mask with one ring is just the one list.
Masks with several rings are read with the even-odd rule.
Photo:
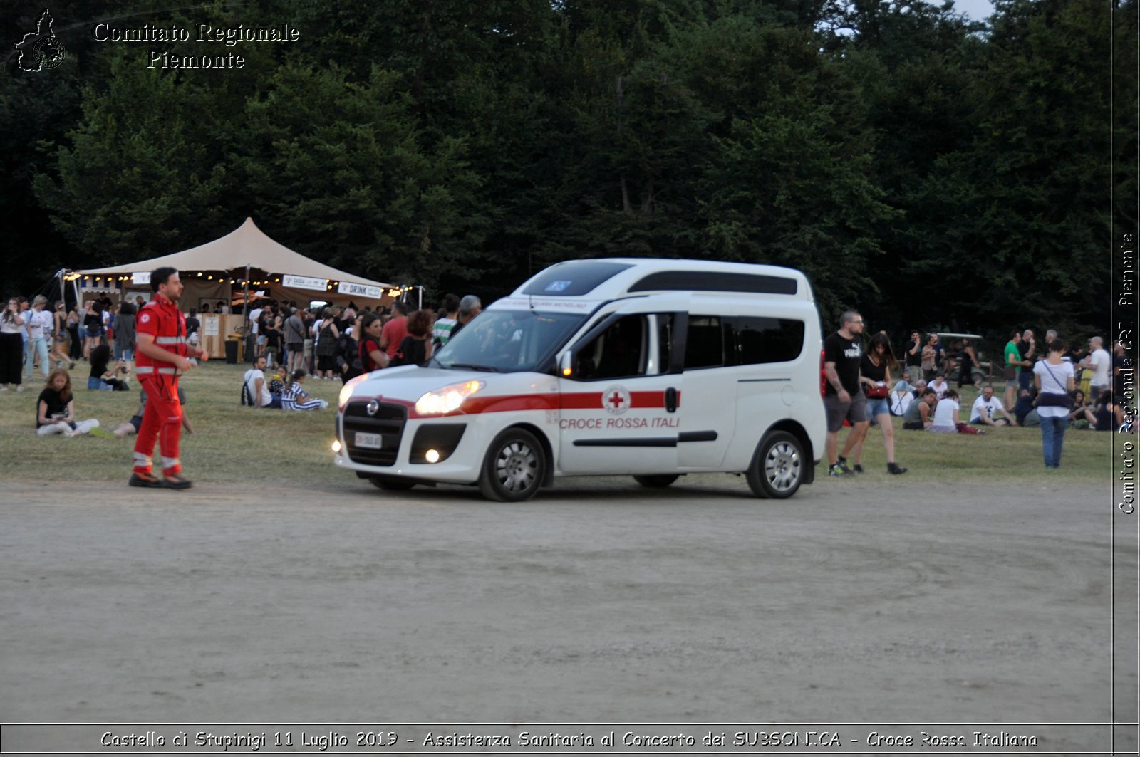
[[502, 373], [535, 371], [585, 319], [581, 314], [484, 310], [439, 350], [432, 365]]

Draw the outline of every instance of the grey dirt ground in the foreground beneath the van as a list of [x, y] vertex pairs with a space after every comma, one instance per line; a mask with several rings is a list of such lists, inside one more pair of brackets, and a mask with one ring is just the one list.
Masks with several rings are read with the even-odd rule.
[[1114, 578], [1112, 493], [1047, 483], [8, 481], [0, 721], [1109, 724], [1114, 685], [1134, 721], [1135, 524]]

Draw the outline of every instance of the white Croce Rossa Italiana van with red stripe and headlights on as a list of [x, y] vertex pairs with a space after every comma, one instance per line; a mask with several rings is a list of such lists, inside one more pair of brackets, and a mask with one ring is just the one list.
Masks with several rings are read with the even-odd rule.
[[797, 270], [568, 261], [483, 310], [429, 367], [349, 381], [336, 465], [383, 489], [467, 483], [506, 502], [562, 475], [665, 487], [718, 471], [790, 497], [823, 453], [820, 344]]

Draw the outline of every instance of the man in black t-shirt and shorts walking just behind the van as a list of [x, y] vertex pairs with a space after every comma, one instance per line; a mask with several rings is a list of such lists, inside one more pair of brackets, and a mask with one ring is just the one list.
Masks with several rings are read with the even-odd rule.
[[839, 430], [844, 420], [852, 422], [844, 451], [847, 453], [866, 436], [870, 425], [866, 417], [866, 397], [858, 381], [858, 366], [863, 357], [863, 317], [848, 310], [839, 318], [839, 331], [823, 340], [823, 371], [826, 383], [823, 389], [823, 408], [828, 414], [828, 474], [854, 475], [846, 462], [840, 462]]

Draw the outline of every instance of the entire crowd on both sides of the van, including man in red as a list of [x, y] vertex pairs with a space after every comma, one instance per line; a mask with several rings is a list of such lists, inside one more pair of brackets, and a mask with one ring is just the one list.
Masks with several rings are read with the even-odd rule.
[[[36, 402], [35, 425], [39, 434], [72, 437], [128, 436], [140, 433], [148, 406], [161, 404], [168, 422], [154, 421], [154, 428], [140, 439], [136, 451], [132, 486], [170, 486], [185, 482], [176, 455], [165, 455], [164, 478], [150, 473], [149, 454], [158, 426], [171, 441], [169, 421], [178, 417], [179, 425], [192, 431], [181, 406], [185, 394], [169, 391], [161, 381], [163, 373], [177, 374], [189, 369], [190, 356], [206, 359], [201, 341], [201, 320], [195, 309], [179, 309], [181, 284], [177, 271], [160, 269], [165, 279], [152, 288], [155, 296], [147, 303], [112, 302], [108, 296], [82, 301], [68, 308], [64, 301], [49, 309], [43, 295], [31, 301], [11, 298], [0, 315], [0, 392], [24, 390], [24, 378], [34, 372], [43, 376], [43, 389]], [[146, 309], [144, 309], [146, 307]], [[358, 309], [325, 306], [310, 309], [295, 302], [267, 300], [254, 303], [246, 320], [252, 367], [242, 384], [242, 402], [255, 408], [315, 410], [328, 402], [315, 398], [304, 389], [307, 380], [348, 382], [366, 372], [401, 365], [426, 365], [434, 352], [447, 344], [472, 318], [482, 303], [478, 296], [446, 295], [437, 310], [414, 310], [404, 301], [391, 308]], [[228, 308], [219, 302], [217, 312]], [[203, 307], [209, 312], [209, 307]], [[141, 315], [140, 315], [141, 314]], [[141, 318], [142, 321], [138, 323]], [[160, 336], [162, 328], [173, 328], [177, 336]], [[141, 326], [141, 329], [139, 328]], [[1032, 329], [1015, 329], [1002, 352], [1004, 393], [985, 383], [963, 418], [958, 390], [975, 383], [978, 356], [969, 339], [943, 347], [938, 334], [914, 331], [903, 347], [902, 360], [896, 357], [886, 332], [873, 334], [864, 347], [863, 318], [845, 312], [839, 329], [824, 340], [823, 401], [826, 413], [826, 448], [830, 475], [854, 475], [864, 471], [863, 445], [872, 425], [882, 434], [887, 472], [906, 472], [895, 459], [893, 415], [902, 416], [907, 431], [934, 433], [984, 434], [1002, 426], [1040, 426], [1045, 467], [1060, 465], [1065, 432], [1069, 429], [1131, 432], [1131, 418], [1117, 398], [1124, 392], [1126, 345], [1117, 342], [1110, 355], [1100, 336], [1084, 344], [1069, 345], [1056, 331], [1049, 331], [1043, 345], [1037, 344]], [[146, 337], [140, 343], [139, 332]], [[177, 349], [164, 349], [177, 343]], [[163, 347], [160, 347], [163, 345]], [[162, 351], [156, 351], [162, 350]], [[132, 363], [142, 384], [139, 410], [129, 422], [112, 432], [101, 430], [97, 420], [76, 421], [72, 380], [68, 371], [85, 361], [89, 368], [88, 389], [129, 391]], [[156, 363], [157, 360], [157, 363]], [[168, 360], [176, 368], [160, 367]], [[951, 377], [958, 388], [951, 386]], [[158, 399], [149, 396], [158, 391]], [[850, 425], [842, 450], [838, 434]], [[177, 434], [176, 434], [177, 436]], [[179, 488], [176, 486], [176, 488]]]

